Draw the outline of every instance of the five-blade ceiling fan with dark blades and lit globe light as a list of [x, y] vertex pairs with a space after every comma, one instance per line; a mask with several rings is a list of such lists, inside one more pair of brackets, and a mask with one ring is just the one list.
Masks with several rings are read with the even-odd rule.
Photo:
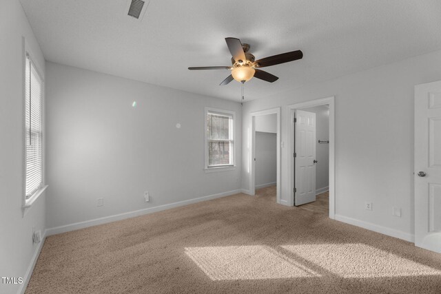
[[229, 82], [236, 80], [240, 83], [245, 83], [254, 77], [260, 78], [263, 81], [273, 83], [278, 80], [277, 76], [259, 70], [260, 67], [286, 63], [302, 59], [303, 53], [300, 50], [277, 54], [264, 59], [254, 61], [254, 55], [249, 53], [249, 45], [243, 44], [236, 38], [225, 38], [229, 52], [232, 54], [233, 66], [203, 66], [203, 67], [188, 67], [189, 70], [231, 70], [232, 74], [227, 76], [220, 85], [227, 85]]

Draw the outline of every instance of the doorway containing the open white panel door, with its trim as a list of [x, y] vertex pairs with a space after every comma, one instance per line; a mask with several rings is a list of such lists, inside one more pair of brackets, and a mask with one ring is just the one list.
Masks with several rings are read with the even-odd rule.
[[[291, 179], [289, 204], [298, 206], [307, 202], [314, 203], [317, 195], [322, 198], [326, 197], [326, 200], [329, 200], [329, 218], [334, 219], [336, 209], [334, 96], [297, 103], [288, 108], [291, 114], [289, 145], [292, 154], [289, 168]], [[317, 114], [320, 116], [327, 114], [327, 129], [321, 127], [320, 132], [317, 132], [316, 128]], [[320, 120], [322, 119], [323, 117], [320, 117]], [[297, 125], [298, 123], [300, 124]], [[323, 125], [323, 122], [320, 124]], [[319, 156], [316, 151], [319, 151]], [[327, 190], [329, 192], [326, 195], [323, 194]], [[320, 202], [323, 200], [320, 198]], [[314, 206], [314, 204], [306, 205]]]

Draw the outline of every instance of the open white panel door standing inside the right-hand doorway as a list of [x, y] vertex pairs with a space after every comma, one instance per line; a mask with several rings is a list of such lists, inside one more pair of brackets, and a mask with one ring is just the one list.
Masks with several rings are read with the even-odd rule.
[[316, 201], [316, 114], [296, 110], [294, 205]]

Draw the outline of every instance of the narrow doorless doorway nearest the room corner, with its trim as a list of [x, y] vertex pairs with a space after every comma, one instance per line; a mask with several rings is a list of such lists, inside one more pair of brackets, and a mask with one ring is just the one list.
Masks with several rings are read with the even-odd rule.
[[[271, 147], [274, 145], [274, 137], [276, 141], [275, 161], [274, 161], [274, 149]], [[266, 145], [267, 147], [266, 150], [263, 145]], [[256, 195], [256, 188], [268, 187], [270, 185], [275, 184], [276, 202], [280, 203], [280, 108], [279, 107], [252, 113], [251, 160], [252, 160], [251, 195]], [[256, 165], [258, 170], [256, 170]], [[276, 173], [275, 177], [274, 177], [274, 171]]]

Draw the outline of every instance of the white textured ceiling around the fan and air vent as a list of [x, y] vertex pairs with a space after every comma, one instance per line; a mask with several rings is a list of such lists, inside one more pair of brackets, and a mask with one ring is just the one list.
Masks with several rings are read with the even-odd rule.
[[21, 0], [45, 59], [178, 90], [240, 100], [240, 83], [218, 84], [231, 65], [224, 38], [256, 59], [292, 50], [304, 57], [264, 70], [245, 98], [262, 98], [441, 49], [439, 0], [151, 0], [142, 21], [126, 0]]

